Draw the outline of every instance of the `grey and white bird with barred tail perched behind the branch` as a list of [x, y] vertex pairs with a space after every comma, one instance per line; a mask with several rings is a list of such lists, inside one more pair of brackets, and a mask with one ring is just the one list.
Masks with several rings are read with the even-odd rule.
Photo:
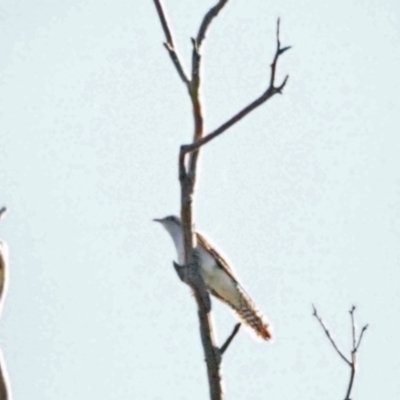
[[[154, 221], [159, 222], [171, 235], [178, 253], [178, 262], [183, 265], [185, 263], [185, 250], [180, 219], [170, 215], [162, 219], [154, 219]], [[196, 238], [199, 272], [208, 291], [228, 304], [259, 337], [264, 340], [271, 339], [268, 323], [240, 285], [228, 262], [204, 236], [196, 232]]]

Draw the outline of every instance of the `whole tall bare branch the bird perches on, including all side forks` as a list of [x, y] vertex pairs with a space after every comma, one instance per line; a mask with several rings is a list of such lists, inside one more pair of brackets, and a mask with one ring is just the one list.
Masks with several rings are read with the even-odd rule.
[[[198, 264], [194, 250], [196, 247], [196, 237], [194, 235], [193, 229], [193, 199], [195, 194], [197, 164], [200, 155], [200, 148], [218, 135], [225, 132], [228, 128], [241, 120], [256, 107], [266, 102], [272, 96], [277, 93], [282, 93], [282, 90], [288, 80], [288, 76], [286, 76], [280, 85], [275, 86], [275, 75], [279, 56], [289, 49], [289, 47], [281, 48], [279, 40], [278, 20], [277, 49], [273, 62], [271, 64], [269, 87], [259, 98], [254, 100], [250, 105], [239, 111], [230, 120], [222, 124], [214, 132], [211, 132], [204, 137], [204, 117], [200, 95], [202, 45], [204, 43], [205, 37], [211, 26], [212, 21], [227, 3], [228, 0], [219, 0], [214, 7], [210, 8], [203, 17], [196, 38], [192, 38], [192, 68], [191, 77], [189, 78], [184, 70], [178, 52], [175, 48], [173, 35], [171, 33], [171, 29], [168, 24], [164, 7], [162, 6], [162, 2], [161, 0], [154, 0], [154, 4], [166, 38], [166, 43], [164, 45], [168, 50], [170, 58], [175, 66], [175, 69], [178, 72], [178, 75], [188, 89], [190, 101], [192, 103], [194, 120], [193, 143], [181, 146], [178, 163], [179, 180], [181, 184], [181, 222], [184, 234], [185, 265], [180, 266], [174, 263], [174, 267], [179, 278], [192, 288], [197, 302], [201, 338], [204, 348], [204, 354], [206, 357], [210, 396], [212, 400], [221, 400], [223, 398], [220, 375], [221, 356], [226, 351], [226, 349], [236, 336], [237, 332], [239, 331], [240, 324], [235, 326], [233, 332], [227, 338], [224, 345], [221, 348], [218, 348], [215, 344], [213, 327], [210, 319], [211, 303], [209, 295], [205, 289], [204, 282], [202, 281], [202, 278], [198, 272]], [[186, 156], [189, 157], [187, 163]]]

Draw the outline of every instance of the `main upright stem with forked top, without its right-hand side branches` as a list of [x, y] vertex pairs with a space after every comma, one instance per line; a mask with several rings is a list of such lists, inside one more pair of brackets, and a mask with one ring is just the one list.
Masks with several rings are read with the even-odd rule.
[[[224, 3], [226, 3], [225, 0]], [[201, 82], [201, 53], [200, 47], [205, 37], [207, 28], [210, 25], [212, 15], [215, 13], [211, 9], [204, 18], [203, 24], [201, 25], [200, 31], [202, 32], [199, 36], [199, 41], [192, 40], [193, 52], [192, 52], [192, 76], [189, 79], [182, 67], [182, 63], [179, 60], [177, 51], [175, 50], [173, 37], [169, 28], [165, 11], [161, 5], [160, 0], [154, 0], [157, 13], [159, 15], [161, 25], [164, 30], [166, 37], [166, 48], [169, 52], [172, 62], [175, 68], [187, 85], [189, 95], [193, 108], [193, 119], [194, 119], [194, 140], [203, 136], [203, 112], [200, 97], [200, 82]], [[219, 9], [221, 9], [220, 7]], [[219, 11], [219, 10], [218, 10]], [[215, 14], [216, 15], [216, 14]], [[183, 273], [183, 278], [186, 283], [193, 289], [194, 297], [197, 302], [199, 323], [200, 323], [200, 334], [203, 344], [205, 360], [207, 365], [208, 382], [210, 388], [210, 397], [212, 400], [221, 400], [223, 398], [223, 391], [221, 385], [221, 353], [216, 346], [215, 336], [212, 327], [212, 321], [210, 316], [210, 300], [208, 293], [204, 294], [204, 282], [198, 271], [198, 260], [194, 251], [196, 245], [196, 237], [193, 230], [193, 198], [194, 188], [196, 183], [196, 170], [198, 161], [198, 152], [190, 157], [188, 170], [185, 165], [186, 154], [180, 152], [179, 154], [179, 180], [181, 183], [181, 220], [182, 229], [184, 234], [184, 248], [185, 248], [185, 264], [186, 270]], [[178, 272], [178, 268], [175, 268]], [[178, 273], [179, 274], [179, 273]]]

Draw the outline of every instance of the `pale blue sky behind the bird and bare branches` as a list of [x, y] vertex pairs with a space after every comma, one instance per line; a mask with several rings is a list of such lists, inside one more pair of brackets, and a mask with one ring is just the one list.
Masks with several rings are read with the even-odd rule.
[[[213, 1], [166, 1], [186, 65]], [[400, 5], [231, 1], [204, 48], [208, 130], [258, 96], [282, 18], [283, 96], [205, 148], [196, 222], [275, 341], [240, 332], [227, 399], [342, 399], [348, 310], [370, 328], [354, 399], [400, 397]], [[204, 399], [195, 304], [151, 222], [179, 211], [185, 88], [152, 1], [0, 0], [0, 343], [16, 400]], [[218, 337], [235, 317], [213, 303]]]

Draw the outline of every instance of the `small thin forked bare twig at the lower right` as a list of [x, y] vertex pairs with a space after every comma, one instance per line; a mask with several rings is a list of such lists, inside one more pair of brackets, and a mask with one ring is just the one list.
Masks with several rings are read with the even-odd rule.
[[356, 307], [352, 306], [351, 310], [349, 311], [350, 313], [350, 318], [351, 318], [351, 335], [352, 335], [352, 349], [350, 352], [350, 357], [351, 361], [349, 361], [343, 353], [339, 350], [338, 346], [336, 345], [335, 341], [332, 339], [331, 334], [329, 333], [328, 329], [326, 328], [325, 324], [322, 322], [322, 319], [319, 317], [317, 313], [317, 309], [313, 305], [313, 316], [317, 318], [319, 321], [320, 325], [322, 326], [323, 330], [325, 331], [325, 334], [328, 336], [328, 339], [330, 340], [332, 346], [335, 348], [336, 352], [339, 354], [339, 356], [346, 362], [346, 364], [350, 367], [350, 378], [349, 378], [349, 383], [347, 385], [347, 390], [346, 390], [346, 395], [344, 400], [351, 400], [350, 394], [354, 386], [354, 379], [356, 376], [356, 369], [357, 369], [357, 351], [358, 348], [360, 347], [361, 340], [363, 338], [363, 334], [368, 328], [368, 324], [365, 325], [359, 335], [358, 341], [356, 340], [357, 337], [357, 332], [356, 332], [356, 324], [355, 324], [355, 319], [354, 319], [354, 311]]

